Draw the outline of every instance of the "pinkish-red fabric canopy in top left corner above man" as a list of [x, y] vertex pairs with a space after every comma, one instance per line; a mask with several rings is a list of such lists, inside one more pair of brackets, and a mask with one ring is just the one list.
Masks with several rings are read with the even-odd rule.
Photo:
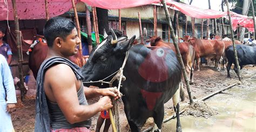
[[[12, 12], [11, 0], [0, 0], [0, 20], [14, 20], [14, 13]], [[75, 0], [76, 2], [77, 0]], [[16, 1], [18, 18], [23, 19], [45, 19], [45, 4], [44, 0], [19, 0]], [[72, 8], [71, 0], [51, 0], [48, 1], [48, 10], [50, 17], [59, 16], [60, 14], [69, 11]], [[9, 11], [9, 13], [7, 13]], [[9, 16], [9, 17], [7, 17]]]

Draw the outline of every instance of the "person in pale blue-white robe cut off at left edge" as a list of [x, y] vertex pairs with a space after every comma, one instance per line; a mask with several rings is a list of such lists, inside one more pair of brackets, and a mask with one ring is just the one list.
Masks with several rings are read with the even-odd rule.
[[14, 131], [10, 113], [15, 110], [16, 93], [11, 70], [0, 54], [0, 131]]

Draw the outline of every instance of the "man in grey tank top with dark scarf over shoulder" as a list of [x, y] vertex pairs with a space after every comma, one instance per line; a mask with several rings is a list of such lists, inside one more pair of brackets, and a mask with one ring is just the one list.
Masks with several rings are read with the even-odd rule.
[[[111, 108], [110, 96], [118, 99], [120, 92], [83, 86], [79, 67], [66, 59], [79, 52], [81, 43], [71, 20], [51, 18], [44, 26], [44, 36], [49, 51], [37, 75], [35, 131], [90, 131], [90, 118]], [[99, 96], [104, 97], [87, 104], [86, 99]]]

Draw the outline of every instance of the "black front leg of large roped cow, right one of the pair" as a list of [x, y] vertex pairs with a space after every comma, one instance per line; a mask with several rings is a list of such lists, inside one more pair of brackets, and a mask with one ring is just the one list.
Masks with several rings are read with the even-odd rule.
[[153, 119], [154, 119], [154, 127], [152, 131], [161, 131], [162, 122], [164, 120], [164, 103], [161, 102], [161, 106], [157, 108], [157, 111], [154, 112]]

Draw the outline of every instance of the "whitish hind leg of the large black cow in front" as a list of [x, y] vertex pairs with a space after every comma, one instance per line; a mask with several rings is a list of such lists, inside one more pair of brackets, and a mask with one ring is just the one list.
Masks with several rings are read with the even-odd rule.
[[[179, 89], [182, 89], [181, 83], [182, 82], [180, 82]], [[176, 112], [176, 117], [177, 117], [176, 131], [182, 131], [180, 120], [179, 120], [179, 97], [180, 97], [179, 94], [180, 94], [180, 91], [177, 90], [176, 93], [172, 97], [173, 107], [174, 107], [174, 111]]]

